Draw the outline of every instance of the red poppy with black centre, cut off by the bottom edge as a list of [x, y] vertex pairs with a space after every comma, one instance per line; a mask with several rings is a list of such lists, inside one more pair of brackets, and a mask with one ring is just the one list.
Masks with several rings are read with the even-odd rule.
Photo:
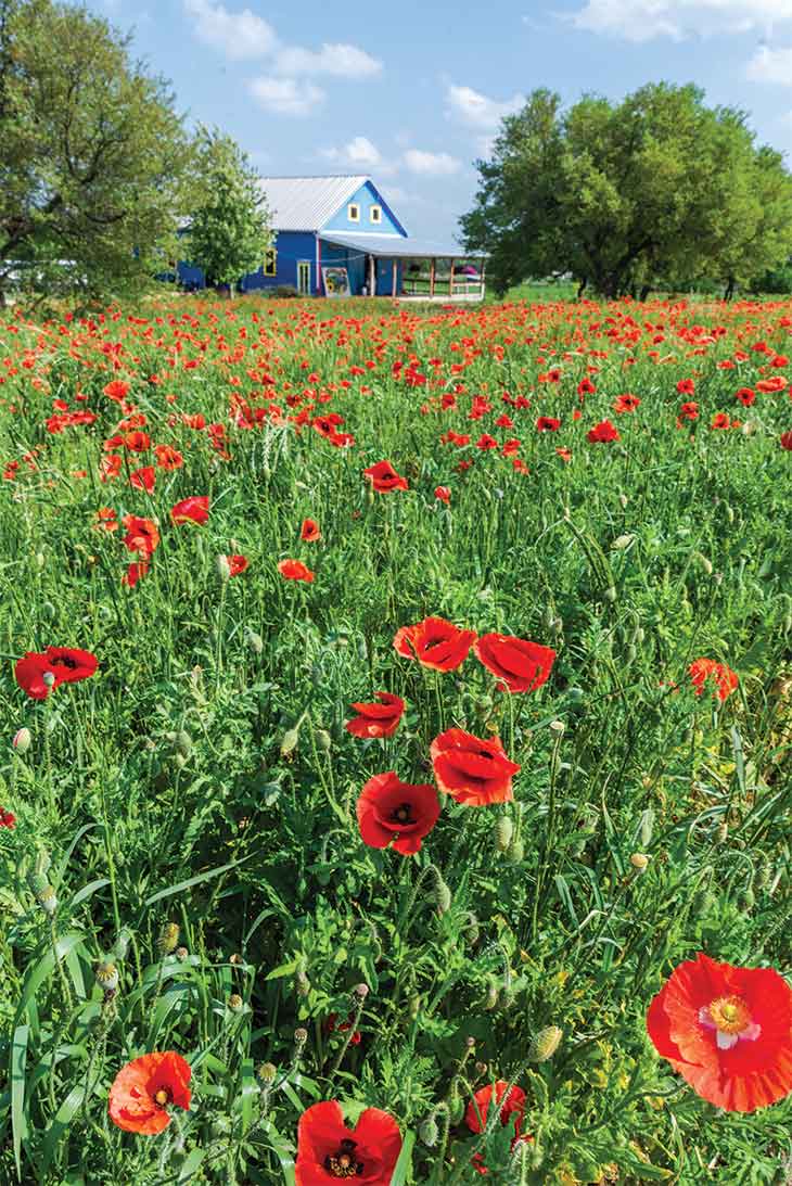
[[350, 1129], [334, 1099], [312, 1104], [298, 1126], [295, 1182], [324, 1186], [349, 1178], [358, 1186], [385, 1186], [401, 1152], [402, 1134], [388, 1112], [366, 1108]]

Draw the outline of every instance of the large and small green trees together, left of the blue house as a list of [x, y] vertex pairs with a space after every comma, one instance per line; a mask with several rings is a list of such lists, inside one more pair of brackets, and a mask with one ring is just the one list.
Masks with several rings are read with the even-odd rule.
[[0, 0], [0, 296], [132, 295], [185, 255], [232, 285], [269, 242], [244, 153], [190, 132], [128, 37], [56, 0]]

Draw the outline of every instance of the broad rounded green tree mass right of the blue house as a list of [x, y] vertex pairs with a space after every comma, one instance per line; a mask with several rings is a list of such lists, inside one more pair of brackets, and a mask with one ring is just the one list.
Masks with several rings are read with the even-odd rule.
[[650, 84], [618, 106], [585, 96], [568, 111], [536, 90], [477, 166], [462, 234], [467, 250], [490, 253], [502, 292], [551, 272], [608, 298], [669, 276], [733, 289], [792, 250], [780, 154], [756, 146], [745, 113], [707, 108], [692, 85]]

